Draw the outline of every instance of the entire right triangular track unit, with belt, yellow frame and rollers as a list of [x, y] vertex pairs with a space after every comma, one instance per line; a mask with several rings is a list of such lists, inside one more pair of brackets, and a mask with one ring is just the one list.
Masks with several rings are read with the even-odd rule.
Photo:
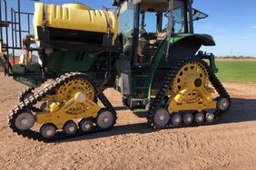
[[[214, 90], [219, 97], [212, 99]], [[170, 92], [171, 91], [171, 92]], [[214, 123], [230, 108], [231, 99], [205, 61], [177, 61], [153, 99], [148, 122], [153, 128], [200, 126]]]

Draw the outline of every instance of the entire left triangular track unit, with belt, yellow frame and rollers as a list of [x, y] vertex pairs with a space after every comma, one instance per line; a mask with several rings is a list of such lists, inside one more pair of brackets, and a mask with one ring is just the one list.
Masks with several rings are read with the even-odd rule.
[[[97, 92], [94, 81], [82, 73], [67, 73], [37, 93], [26, 93], [30, 97], [9, 115], [9, 126], [23, 137], [54, 141], [107, 130], [116, 122], [111, 103], [102, 92]], [[97, 98], [105, 108], [97, 104]], [[35, 107], [39, 103], [40, 107]], [[39, 130], [34, 129], [35, 122], [41, 125]]]

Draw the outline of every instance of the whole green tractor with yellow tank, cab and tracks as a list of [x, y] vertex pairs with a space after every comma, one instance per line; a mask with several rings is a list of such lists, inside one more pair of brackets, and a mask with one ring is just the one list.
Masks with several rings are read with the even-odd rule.
[[[30, 87], [9, 115], [15, 133], [53, 141], [110, 129], [117, 116], [103, 94], [106, 88], [120, 91], [123, 104], [134, 112], [145, 111], [157, 129], [212, 124], [230, 108], [230, 96], [214, 74], [214, 56], [199, 52], [215, 42], [210, 35], [193, 33], [193, 21], [207, 15], [193, 9], [192, 0], [114, 0], [113, 6], [114, 13], [105, 7], [35, 3], [34, 34], [23, 41], [21, 20], [1, 18], [5, 73]], [[25, 13], [19, 9], [15, 14]], [[19, 26], [12, 29], [12, 46], [10, 25]], [[23, 50], [24, 60], [12, 65], [8, 51], [15, 56], [16, 49]], [[33, 52], [38, 52], [37, 61]], [[52, 81], [34, 90], [46, 80]]]

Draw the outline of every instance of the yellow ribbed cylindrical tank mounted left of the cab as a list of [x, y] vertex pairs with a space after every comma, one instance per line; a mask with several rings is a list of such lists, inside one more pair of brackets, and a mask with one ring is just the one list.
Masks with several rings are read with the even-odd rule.
[[[41, 39], [39, 28], [44, 27], [55, 30], [54, 33], [60, 33], [60, 31], [73, 31], [72, 35], [81, 33], [85, 39], [85, 36], [90, 36], [90, 40], [101, 39], [99, 35], [105, 35], [110, 30], [113, 36], [112, 43], [114, 43], [118, 32], [117, 19], [113, 12], [94, 10], [90, 6], [80, 4], [44, 5], [35, 3], [34, 35], [36, 41]], [[77, 32], [75, 33], [75, 31]], [[58, 36], [65, 36], [65, 32]], [[94, 35], [97, 38], [94, 38]], [[83, 36], [80, 37], [83, 38]]]

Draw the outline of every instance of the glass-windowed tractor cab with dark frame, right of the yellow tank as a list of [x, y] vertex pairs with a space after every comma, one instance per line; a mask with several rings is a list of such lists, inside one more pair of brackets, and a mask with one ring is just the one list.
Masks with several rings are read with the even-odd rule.
[[149, 66], [160, 44], [178, 33], [193, 33], [193, 20], [207, 17], [192, 9], [191, 0], [124, 0], [117, 5], [123, 52], [134, 66]]

